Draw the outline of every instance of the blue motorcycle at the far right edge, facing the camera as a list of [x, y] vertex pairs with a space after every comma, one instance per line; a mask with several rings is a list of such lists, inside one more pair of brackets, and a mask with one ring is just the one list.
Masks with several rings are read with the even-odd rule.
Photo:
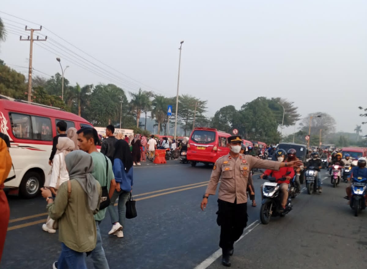
[[362, 209], [366, 209], [366, 190], [367, 178], [353, 178], [350, 207], [354, 210], [354, 215], [356, 217], [358, 217], [358, 213]]

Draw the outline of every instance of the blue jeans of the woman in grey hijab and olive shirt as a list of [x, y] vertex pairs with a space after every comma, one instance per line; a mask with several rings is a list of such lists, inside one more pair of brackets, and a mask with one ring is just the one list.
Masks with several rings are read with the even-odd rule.
[[87, 269], [83, 252], [77, 252], [61, 243], [61, 253], [57, 263], [58, 269]]

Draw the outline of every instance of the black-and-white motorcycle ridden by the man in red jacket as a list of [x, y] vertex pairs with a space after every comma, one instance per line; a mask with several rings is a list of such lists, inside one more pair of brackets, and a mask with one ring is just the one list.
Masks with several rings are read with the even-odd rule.
[[[290, 172], [287, 173], [287, 175]], [[287, 205], [284, 211], [279, 211], [281, 207], [280, 200], [280, 184], [276, 183], [275, 177], [264, 175], [263, 179], [268, 180], [262, 186], [263, 199], [260, 208], [260, 219], [262, 224], [268, 224], [272, 216], [284, 217], [292, 210], [291, 197], [288, 196]], [[285, 180], [285, 177], [280, 178], [280, 181]], [[289, 189], [288, 189], [289, 190]]]

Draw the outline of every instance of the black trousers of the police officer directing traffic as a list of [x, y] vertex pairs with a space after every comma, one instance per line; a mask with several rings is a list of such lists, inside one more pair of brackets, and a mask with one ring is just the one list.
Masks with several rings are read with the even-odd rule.
[[217, 223], [221, 226], [219, 247], [223, 253], [233, 249], [247, 225], [247, 203], [236, 204], [218, 199]]

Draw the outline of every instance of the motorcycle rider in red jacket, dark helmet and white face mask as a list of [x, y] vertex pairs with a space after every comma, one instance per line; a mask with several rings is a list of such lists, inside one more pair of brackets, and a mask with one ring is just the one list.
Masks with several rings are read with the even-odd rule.
[[[284, 149], [279, 149], [275, 152], [275, 155], [277, 157], [277, 160], [279, 162], [286, 162], [286, 151]], [[290, 172], [287, 175], [287, 172]], [[265, 170], [264, 174], [262, 174], [260, 176], [260, 178], [263, 178], [264, 175], [268, 175], [271, 177], [275, 177], [276, 178], [276, 182], [280, 183], [280, 192], [281, 192], [281, 208], [280, 211], [284, 211], [286, 209], [286, 205], [287, 205], [287, 200], [288, 200], [288, 188], [289, 188], [289, 182], [290, 180], [294, 177], [294, 168], [290, 168], [290, 167], [282, 167], [279, 169], [279, 171], [276, 170]], [[280, 180], [278, 180], [280, 179]], [[261, 185], [261, 195], [262, 195], [262, 186]]]

